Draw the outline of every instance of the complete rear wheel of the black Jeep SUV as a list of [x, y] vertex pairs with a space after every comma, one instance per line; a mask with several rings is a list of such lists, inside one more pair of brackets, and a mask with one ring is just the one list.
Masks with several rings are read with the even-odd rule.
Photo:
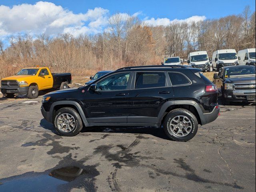
[[164, 132], [175, 141], [188, 141], [198, 130], [194, 114], [186, 109], [174, 109], [164, 119]]

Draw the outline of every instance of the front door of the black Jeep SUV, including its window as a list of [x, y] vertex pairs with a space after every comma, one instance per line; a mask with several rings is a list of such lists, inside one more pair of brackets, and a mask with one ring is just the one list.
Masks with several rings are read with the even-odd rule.
[[85, 95], [88, 123], [126, 123], [131, 72], [120, 72], [96, 82], [96, 90]]

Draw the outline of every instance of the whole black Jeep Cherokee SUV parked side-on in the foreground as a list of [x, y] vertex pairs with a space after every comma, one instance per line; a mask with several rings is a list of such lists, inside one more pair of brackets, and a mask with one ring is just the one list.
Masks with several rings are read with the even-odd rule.
[[200, 69], [136, 66], [118, 69], [87, 86], [46, 94], [41, 112], [62, 136], [87, 126], [161, 127], [187, 141], [198, 124], [214, 121], [218, 90]]

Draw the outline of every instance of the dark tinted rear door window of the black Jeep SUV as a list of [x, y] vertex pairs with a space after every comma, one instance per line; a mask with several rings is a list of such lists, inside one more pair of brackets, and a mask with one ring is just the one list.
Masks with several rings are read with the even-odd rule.
[[137, 72], [135, 89], [167, 86], [164, 72]]

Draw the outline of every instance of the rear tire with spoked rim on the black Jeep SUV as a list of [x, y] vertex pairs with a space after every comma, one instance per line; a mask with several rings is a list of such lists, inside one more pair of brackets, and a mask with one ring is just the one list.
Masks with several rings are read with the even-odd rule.
[[[183, 116], [185, 118], [185, 122], [189, 121], [189, 123], [187, 123], [187, 125], [188, 125], [187, 127], [190, 127], [189, 133], [187, 133], [187, 132], [184, 133], [184, 127], [181, 128], [181, 130], [178, 127], [176, 129], [174, 129], [173, 131], [171, 130], [171, 127], [173, 127], [172, 123], [175, 122], [174, 120], [177, 120], [176, 119], [177, 116]], [[184, 118], [183, 118], [183, 120], [184, 120]], [[178, 121], [180, 121], [180, 120], [182, 120], [182, 118], [178, 118]], [[187, 128], [187, 129], [189, 129], [189, 128]], [[177, 130], [177, 132], [176, 132], [176, 130]], [[190, 112], [189, 110], [182, 109], [182, 108], [174, 109], [174, 110], [170, 111], [164, 118], [164, 132], [171, 140], [188, 141], [196, 135], [197, 130], [198, 130], [198, 121], [196, 119], [196, 116], [194, 116], [194, 114], [192, 112]], [[180, 133], [178, 133], [178, 132], [180, 132], [180, 131], [183, 132], [182, 135], [184, 135], [184, 136], [179, 135]], [[174, 134], [175, 132], [176, 132], [176, 134]]]

